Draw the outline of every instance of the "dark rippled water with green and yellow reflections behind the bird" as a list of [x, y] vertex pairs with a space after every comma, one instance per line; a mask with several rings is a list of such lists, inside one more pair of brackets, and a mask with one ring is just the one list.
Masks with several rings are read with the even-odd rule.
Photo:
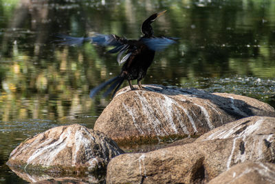
[[[58, 2], [58, 3], [57, 3]], [[179, 37], [155, 56], [142, 83], [251, 96], [275, 107], [275, 1], [0, 0], [0, 183], [26, 183], [5, 165], [21, 141], [58, 125], [93, 127], [110, 99], [89, 90], [120, 72], [115, 55], [56, 33]], [[124, 83], [124, 85], [127, 85]]]

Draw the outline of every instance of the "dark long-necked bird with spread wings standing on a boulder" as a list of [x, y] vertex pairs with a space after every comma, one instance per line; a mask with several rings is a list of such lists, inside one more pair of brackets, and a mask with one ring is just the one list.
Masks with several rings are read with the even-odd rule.
[[[101, 46], [113, 46], [109, 53], [117, 53], [117, 61], [122, 64], [122, 70], [118, 76], [101, 83], [96, 88], [91, 89], [89, 96], [94, 98], [100, 90], [110, 85], [104, 92], [103, 96], [106, 97], [113, 91], [114, 94], [119, 90], [124, 80], [128, 81], [131, 90], [135, 90], [132, 85], [132, 80], [137, 80], [137, 85], [140, 90], [143, 89], [141, 80], [146, 76], [146, 72], [150, 65], [153, 63], [155, 51], [162, 51], [168, 45], [176, 43], [178, 38], [174, 37], [155, 37], [151, 23], [157, 17], [162, 16], [166, 10], [151, 14], [141, 26], [142, 37], [140, 39], [126, 39], [119, 37], [115, 34], [96, 34], [94, 37], [71, 37], [65, 34], [58, 34], [56, 37], [61, 45], [82, 45], [84, 42], [95, 43]], [[124, 57], [122, 57], [124, 55]]]

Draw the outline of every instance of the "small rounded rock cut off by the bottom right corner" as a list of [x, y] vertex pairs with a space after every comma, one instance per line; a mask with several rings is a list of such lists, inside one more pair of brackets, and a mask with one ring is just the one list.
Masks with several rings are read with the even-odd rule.
[[234, 165], [208, 184], [266, 184], [275, 183], [274, 163], [245, 162]]

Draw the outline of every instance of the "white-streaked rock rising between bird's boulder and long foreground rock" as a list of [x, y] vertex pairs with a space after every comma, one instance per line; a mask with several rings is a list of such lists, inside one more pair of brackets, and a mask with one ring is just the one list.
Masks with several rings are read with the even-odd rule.
[[196, 141], [226, 139], [256, 134], [275, 134], [275, 118], [267, 116], [251, 116], [217, 127], [200, 136]]

